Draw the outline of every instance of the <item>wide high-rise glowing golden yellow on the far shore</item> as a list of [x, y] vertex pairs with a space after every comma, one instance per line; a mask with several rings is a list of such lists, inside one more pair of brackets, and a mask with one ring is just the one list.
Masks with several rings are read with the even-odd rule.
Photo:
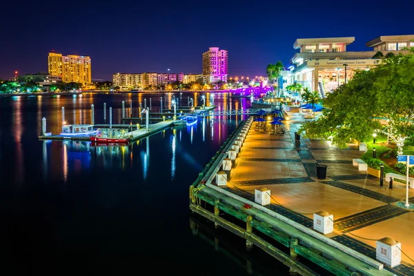
[[92, 83], [90, 57], [49, 52], [48, 72], [61, 77], [63, 82]]

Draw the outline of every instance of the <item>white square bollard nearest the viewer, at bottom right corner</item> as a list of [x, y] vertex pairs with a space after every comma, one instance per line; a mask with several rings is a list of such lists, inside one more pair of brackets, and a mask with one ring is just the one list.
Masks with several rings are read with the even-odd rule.
[[377, 240], [377, 260], [394, 267], [401, 262], [401, 243], [384, 237]]

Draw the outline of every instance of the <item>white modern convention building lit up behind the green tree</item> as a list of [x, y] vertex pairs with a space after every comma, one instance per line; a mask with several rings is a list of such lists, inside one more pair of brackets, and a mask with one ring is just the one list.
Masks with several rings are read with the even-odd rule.
[[297, 39], [293, 48], [299, 50], [290, 60], [292, 66], [283, 72], [284, 86], [300, 83], [311, 91], [319, 91], [322, 97], [342, 83], [352, 79], [355, 70], [369, 70], [382, 59], [374, 59], [377, 51], [408, 53], [406, 47], [414, 46], [414, 35], [382, 36], [366, 43], [373, 47], [368, 51], [348, 51], [348, 45], [355, 37], [330, 37], [317, 39]]

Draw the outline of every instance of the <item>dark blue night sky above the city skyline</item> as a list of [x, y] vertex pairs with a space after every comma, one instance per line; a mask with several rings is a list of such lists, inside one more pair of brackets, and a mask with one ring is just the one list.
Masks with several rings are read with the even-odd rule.
[[47, 71], [48, 52], [89, 55], [92, 79], [114, 72], [201, 73], [209, 47], [229, 75], [288, 66], [297, 38], [414, 34], [413, 1], [8, 1], [0, 16], [0, 78]]

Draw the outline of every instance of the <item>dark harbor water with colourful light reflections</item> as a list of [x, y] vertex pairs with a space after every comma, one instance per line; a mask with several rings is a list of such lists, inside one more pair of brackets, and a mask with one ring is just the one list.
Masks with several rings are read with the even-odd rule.
[[[172, 95], [179, 106], [187, 105], [187, 97], [202, 104], [199, 93], [0, 98], [2, 270], [9, 275], [122, 275], [146, 269], [155, 275], [288, 274], [261, 250], [246, 252], [243, 239], [214, 230], [188, 209], [190, 184], [244, 116], [199, 119], [129, 146], [37, 138], [43, 117], [48, 132], [60, 132], [62, 106], [68, 124], [90, 124], [90, 105], [95, 123], [101, 123], [106, 102], [117, 124], [121, 101], [129, 107], [132, 100], [137, 117], [139, 102], [144, 106], [147, 99], [149, 106], [151, 97], [157, 111], [159, 97], [166, 96], [170, 106]], [[214, 103], [237, 109], [248, 108], [250, 101], [219, 94]], [[190, 219], [200, 224], [196, 235]]]

